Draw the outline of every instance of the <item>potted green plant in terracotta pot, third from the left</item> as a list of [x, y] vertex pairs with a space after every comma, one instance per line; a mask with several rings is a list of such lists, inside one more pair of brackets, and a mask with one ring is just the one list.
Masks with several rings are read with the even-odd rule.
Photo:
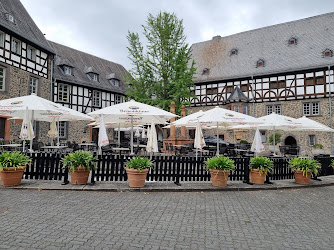
[[143, 187], [145, 185], [148, 170], [153, 162], [146, 157], [134, 157], [126, 163], [126, 173], [130, 187]]

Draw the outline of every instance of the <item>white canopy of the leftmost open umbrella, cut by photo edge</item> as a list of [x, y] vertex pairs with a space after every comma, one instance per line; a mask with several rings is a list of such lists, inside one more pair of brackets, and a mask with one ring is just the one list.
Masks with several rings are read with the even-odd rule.
[[0, 115], [23, 119], [26, 110], [33, 112], [33, 120], [51, 122], [53, 118], [59, 121], [92, 120], [91, 117], [51, 102], [34, 94], [15, 97], [0, 101]]

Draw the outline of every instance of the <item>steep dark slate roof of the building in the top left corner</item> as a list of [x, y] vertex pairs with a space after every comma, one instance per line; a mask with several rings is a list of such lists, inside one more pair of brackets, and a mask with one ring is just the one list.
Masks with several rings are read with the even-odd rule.
[[[7, 20], [8, 13], [15, 18], [15, 23]], [[43, 33], [19, 0], [0, 0], [0, 26], [27, 39], [35, 46], [53, 53]]]

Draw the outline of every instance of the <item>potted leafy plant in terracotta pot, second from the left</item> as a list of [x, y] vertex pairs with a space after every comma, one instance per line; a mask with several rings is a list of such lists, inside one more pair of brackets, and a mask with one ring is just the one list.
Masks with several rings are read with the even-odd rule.
[[96, 157], [91, 152], [75, 151], [61, 159], [63, 168], [71, 169], [71, 184], [85, 185], [91, 168], [96, 167]]

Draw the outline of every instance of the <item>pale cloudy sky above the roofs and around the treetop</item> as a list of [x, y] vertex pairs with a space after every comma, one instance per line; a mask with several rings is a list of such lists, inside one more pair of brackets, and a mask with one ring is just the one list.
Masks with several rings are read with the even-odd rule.
[[187, 43], [333, 12], [332, 0], [21, 0], [48, 40], [132, 68], [128, 31], [144, 42], [148, 14], [175, 13]]

